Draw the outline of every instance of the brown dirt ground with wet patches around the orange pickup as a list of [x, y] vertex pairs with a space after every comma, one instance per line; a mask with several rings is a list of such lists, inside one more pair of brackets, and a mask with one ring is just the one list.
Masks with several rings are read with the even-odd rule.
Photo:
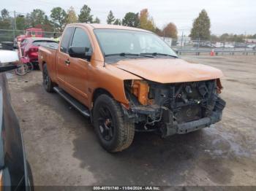
[[35, 185], [256, 185], [256, 57], [183, 56], [225, 74], [222, 122], [161, 139], [136, 133], [117, 154], [99, 146], [85, 117], [56, 93], [42, 74], [9, 79]]

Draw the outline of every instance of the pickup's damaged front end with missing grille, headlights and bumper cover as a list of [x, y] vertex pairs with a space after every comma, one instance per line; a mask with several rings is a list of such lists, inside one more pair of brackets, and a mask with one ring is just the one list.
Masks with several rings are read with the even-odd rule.
[[126, 80], [124, 89], [127, 120], [135, 122], [138, 131], [157, 130], [163, 137], [209, 127], [222, 119], [225, 107], [219, 79], [174, 84]]

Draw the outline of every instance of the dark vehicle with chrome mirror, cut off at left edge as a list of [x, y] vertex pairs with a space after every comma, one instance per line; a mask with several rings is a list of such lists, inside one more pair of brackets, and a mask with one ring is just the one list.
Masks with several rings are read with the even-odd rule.
[[0, 50], [0, 190], [33, 190], [33, 179], [4, 71], [15, 69], [17, 52]]

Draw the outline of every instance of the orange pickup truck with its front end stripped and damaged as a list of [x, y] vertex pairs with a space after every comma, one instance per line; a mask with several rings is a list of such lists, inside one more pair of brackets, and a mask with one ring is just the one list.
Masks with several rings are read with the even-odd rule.
[[222, 71], [181, 60], [159, 36], [139, 28], [75, 23], [59, 47], [39, 47], [43, 86], [91, 117], [109, 152], [135, 131], [162, 137], [210, 127], [222, 118]]

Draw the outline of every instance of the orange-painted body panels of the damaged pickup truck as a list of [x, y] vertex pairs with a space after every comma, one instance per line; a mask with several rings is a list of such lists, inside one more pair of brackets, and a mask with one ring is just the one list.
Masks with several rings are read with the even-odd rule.
[[[94, 34], [95, 28], [145, 30], [126, 26], [73, 23], [67, 25], [63, 35], [69, 27], [82, 28], [89, 36], [92, 48], [91, 61], [71, 58], [68, 53], [61, 52], [60, 47], [58, 50], [39, 47], [39, 67], [42, 70], [42, 65], [46, 63], [52, 82], [89, 109], [93, 106], [95, 91], [102, 89], [108, 91], [119, 103], [129, 106], [124, 92], [124, 80], [127, 79], [133, 80], [132, 93], [141, 104], [146, 105], [152, 104], [152, 100], [148, 100], [148, 84], [145, 79], [159, 83], [176, 83], [219, 79], [223, 76], [219, 69], [188, 63], [179, 58], [140, 58], [112, 64], [104, 63], [104, 55]], [[70, 61], [69, 66], [65, 64], [66, 60]]]

